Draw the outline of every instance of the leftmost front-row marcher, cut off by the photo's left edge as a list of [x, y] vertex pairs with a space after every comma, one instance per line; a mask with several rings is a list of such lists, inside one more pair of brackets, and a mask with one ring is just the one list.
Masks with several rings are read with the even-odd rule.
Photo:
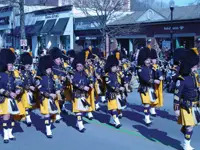
[[[17, 96], [21, 93], [21, 87], [16, 82], [13, 64], [15, 54], [10, 49], [0, 51], [0, 115], [3, 117], [4, 143], [15, 140], [12, 131], [15, 126], [13, 117], [20, 115]], [[20, 103], [20, 102], [19, 102]]]

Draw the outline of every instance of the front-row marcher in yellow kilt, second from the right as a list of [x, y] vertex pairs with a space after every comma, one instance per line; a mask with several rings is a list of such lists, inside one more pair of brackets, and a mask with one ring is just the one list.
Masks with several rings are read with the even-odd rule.
[[150, 120], [150, 106], [157, 104], [155, 84], [160, 84], [160, 81], [153, 76], [150, 58], [151, 54], [149, 49], [143, 48], [140, 50], [138, 56], [138, 77], [140, 82], [138, 92], [144, 105], [144, 121], [147, 126], [150, 126], [152, 123]]

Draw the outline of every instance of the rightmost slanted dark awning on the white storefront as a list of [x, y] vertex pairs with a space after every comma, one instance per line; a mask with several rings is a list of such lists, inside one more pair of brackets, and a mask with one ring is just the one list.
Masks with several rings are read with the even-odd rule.
[[51, 34], [62, 35], [65, 31], [69, 18], [61, 18], [51, 30]]

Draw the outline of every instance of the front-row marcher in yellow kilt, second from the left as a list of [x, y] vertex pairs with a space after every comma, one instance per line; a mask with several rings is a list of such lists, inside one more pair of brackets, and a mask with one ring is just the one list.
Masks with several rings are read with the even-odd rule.
[[40, 57], [37, 76], [37, 88], [40, 93], [40, 112], [44, 116], [46, 136], [52, 138], [51, 125], [54, 116], [60, 113], [57, 87], [52, 73], [53, 61], [50, 55]]

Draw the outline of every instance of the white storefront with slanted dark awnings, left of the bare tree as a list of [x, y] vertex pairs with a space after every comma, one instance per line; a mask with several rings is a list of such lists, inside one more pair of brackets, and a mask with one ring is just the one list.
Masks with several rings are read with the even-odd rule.
[[[43, 48], [73, 49], [74, 33], [71, 10], [72, 6], [70, 5], [26, 14], [26, 37], [28, 46], [35, 56]], [[19, 20], [17, 21], [18, 26], [15, 30], [19, 28]]]

